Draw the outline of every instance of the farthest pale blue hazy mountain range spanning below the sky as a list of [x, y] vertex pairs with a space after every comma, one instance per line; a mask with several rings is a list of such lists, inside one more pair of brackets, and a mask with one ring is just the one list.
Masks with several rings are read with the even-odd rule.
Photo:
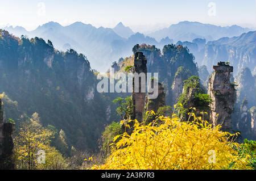
[[77, 52], [86, 54], [92, 68], [99, 71], [105, 71], [113, 61], [129, 56], [135, 44], [151, 44], [163, 48], [164, 45], [177, 41], [192, 41], [197, 38], [217, 40], [221, 37], [240, 36], [250, 31], [249, 28], [239, 26], [220, 27], [198, 22], [180, 22], [149, 35], [134, 33], [121, 22], [114, 28], [96, 28], [81, 22], [69, 26], [49, 22], [34, 31], [12, 26], [3, 29], [16, 36], [37, 36], [51, 40], [59, 50], [76, 49]]

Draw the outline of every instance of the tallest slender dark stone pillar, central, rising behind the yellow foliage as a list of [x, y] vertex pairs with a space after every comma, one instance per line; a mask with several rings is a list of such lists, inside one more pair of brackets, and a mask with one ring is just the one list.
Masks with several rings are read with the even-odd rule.
[[[134, 78], [133, 78], [133, 115], [131, 119], [137, 119], [138, 121], [142, 121], [143, 112], [144, 112], [144, 104], [145, 104], [145, 96], [146, 92], [142, 90], [143, 87], [146, 87], [146, 79], [147, 79], [147, 59], [143, 55], [142, 52], [136, 52], [134, 56]], [[137, 74], [143, 73], [145, 76], [145, 81], [141, 81], [141, 78], [138, 81], [135, 81], [135, 76]], [[138, 84], [137, 84], [138, 83]], [[135, 87], [138, 88], [138, 92], [136, 92]]]

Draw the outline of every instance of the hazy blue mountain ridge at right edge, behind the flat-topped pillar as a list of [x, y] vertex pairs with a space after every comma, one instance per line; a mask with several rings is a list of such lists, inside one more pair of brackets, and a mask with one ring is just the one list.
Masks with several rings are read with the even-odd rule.
[[240, 36], [222, 37], [215, 41], [194, 39], [178, 41], [176, 45], [188, 47], [198, 65], [206, 65], [208, 71], [219, 61], [228, 61], [234, 67], [234, 75], [244, 68], [256, 73], [256, 31], [242, 33]]

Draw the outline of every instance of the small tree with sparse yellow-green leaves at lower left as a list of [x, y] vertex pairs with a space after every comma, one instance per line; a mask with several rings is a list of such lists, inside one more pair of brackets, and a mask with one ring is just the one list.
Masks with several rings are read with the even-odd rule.
[[67, 168], [64, 157], [50, 145], [51, 138], [53, 132], [43, 128], [38, 113], [34, 113], [27, 123], [22, 124], [18, 135], [14, 138], [16, 168], [28, 170]]

